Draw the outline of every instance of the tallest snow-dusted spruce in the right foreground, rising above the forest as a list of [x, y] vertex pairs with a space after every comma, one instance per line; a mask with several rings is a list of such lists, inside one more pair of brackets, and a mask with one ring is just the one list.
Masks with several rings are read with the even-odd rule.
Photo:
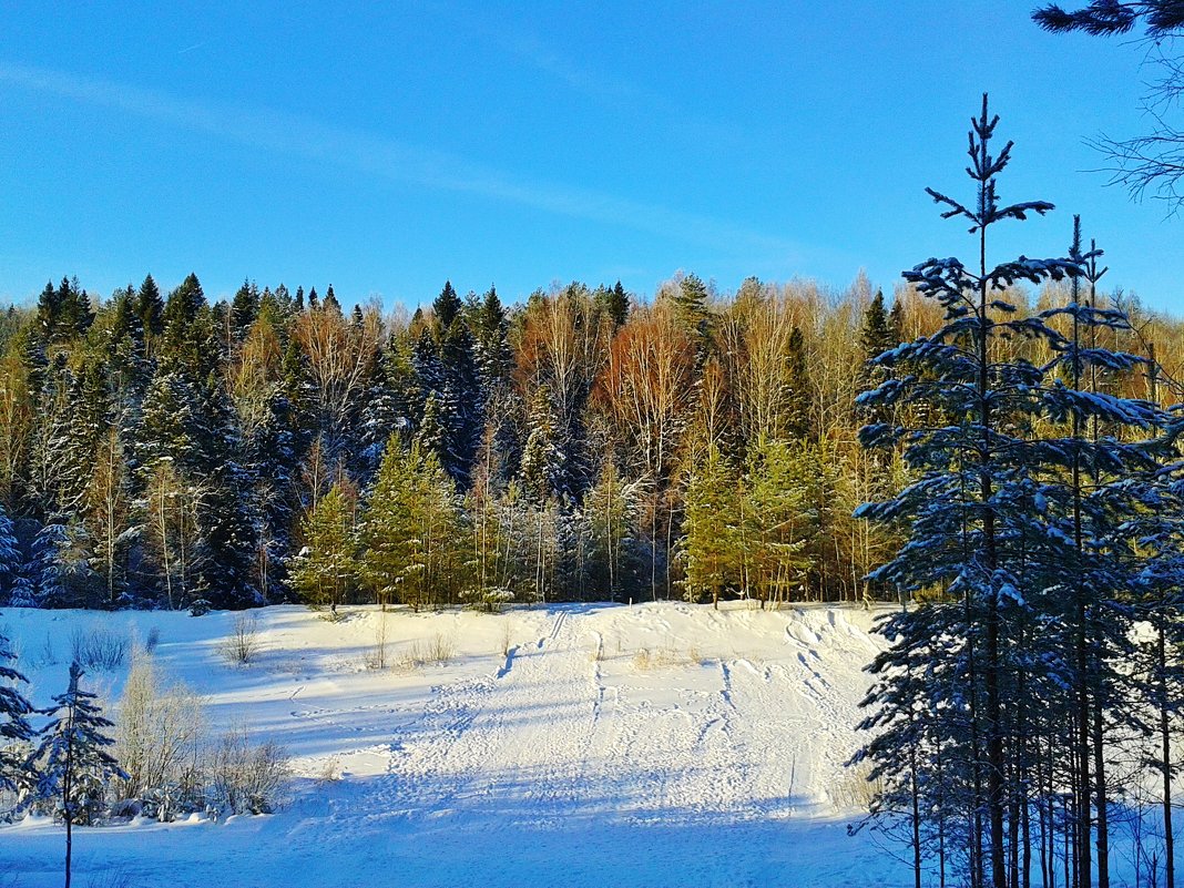
[[[887, 637], [896, 641], [871, 667], [880, 678], [868, 696], [874, 712], [866, 721], [882, 733], [863, 755], [876, 762], [874, 773], [890, 774], [915, 790], [915, 780], [901, 778], [901, 768], [910, 768], [912, 760], [902, 760], [900, 752], [919, 752], [913, 713], [935, 706], [933, 697], [919, 700], [918, 694], [965, 701], [938, 709], [946, 718], [933, 728], [934, 742], [959, 744], [959, 755], [969, 764], [960, 774], [946, 774], [964, 781], [944, 791], [969, 799], [963, 835], [971, 883], [984, 884], [989, 877], [995, 888], [1006, 888], [1012, 881], [1010, 864], [1018, 860], [1015, 837], [1022, 815], [1016, 812], [1027, 806], [1014, 783], [1022, 773], [1017, 767], [1022, 741], [1016, 738], [1023, 736], [1031, 713], [1005, 710], [1004, 699], [1027, 701], [1038, 694], [1034, 687], [1056, 662], [1053, 655], [1041, 665], [1034, 650], [1041, 636], [1032, 624], [1032, 607], [1040, 591], [1050, 585], [1047, 577], [1036, 578], [1034, 562], [1051, 567], [1074, 559], [1066, 551], [1069, 538], [1060, 528], [1050, 532], [1041, 514], [1037, 472], [1048, 453], [1028, 444], [1034, 418], [1048, 408], [1041, 393], [1045, 371], [1023, 358], [1000, 361], [995, 349], [1029, 336], [1057, 341], [1038, 320], [1014, 316], [1004, 295], [1017, 281], [1076, 276], [1081, 268], [1072, 258], [1021, 257], [993, 268], [987, 264], [987, 233], [995, 225], [1053, 208], [1045, 201], [999, 204], [997, 176], [1010, 160], [1011, 143], [991, 153], [997, 123], [984, 96], [970, 134], [967, 173], [976, 187], [971, 202], [928, 189], [944, 205], [946, 218], [970, 221], [977, 262], [966, 266], [954, 258], [929, 259], [905, 274], [921, 294], [938, 300], [946, 323], [932, 336], [877, 359], [908, 373], [861, 398], [864, 405], [884, 407], [935, 403], [953, 422], [907, 432], [905, 455], [918, 480], [894, 500], [863, 507], [858, 514], [903, 519], [912, 526], [909, 541], [873, 574], [875, 579], [908, 591], [940, 588], [947, 596], [947, 603], [899, 614], [886, 626]], [[866, 426], [861, 439], [867, 445], [893, 444], [901, 435], [879, 423]], [[1034, 552], [1038, 547], [1047, 551]], [[944, 684], [910, 683], [912, 657], [932, 638], [934, 620], [942, 626], [942, 648], [961, 661], [940, 678], [927, 673]], [[964, 718], [969, 733], [961, 727]], [[924, 767], [932, 780], [932, 759]], [[1014, 799], [1021, 799], [1018, 807]]]

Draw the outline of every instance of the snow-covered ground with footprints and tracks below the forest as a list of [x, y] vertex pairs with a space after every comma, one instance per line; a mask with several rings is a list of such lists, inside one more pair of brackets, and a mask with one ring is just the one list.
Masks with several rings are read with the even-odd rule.
[[[156, 662], [206, 696], [214, 728], [294, 758], [277, 815], [78, 830], [81, 888], [912, 884], [867, 831], [847, 835], [874, 613], [255, 613], [245, 667], [219, 652], [236, 614], [0, 616], [39, 704], [65, 684], [76, 629], [155, 633]], [[413, 662], [433, 648], [451, 659]], [[124, 674], [92, 687], [117, 700]], [[0, 886], [60, 884], [62, 848], [44, 821], [0, 829]]]

